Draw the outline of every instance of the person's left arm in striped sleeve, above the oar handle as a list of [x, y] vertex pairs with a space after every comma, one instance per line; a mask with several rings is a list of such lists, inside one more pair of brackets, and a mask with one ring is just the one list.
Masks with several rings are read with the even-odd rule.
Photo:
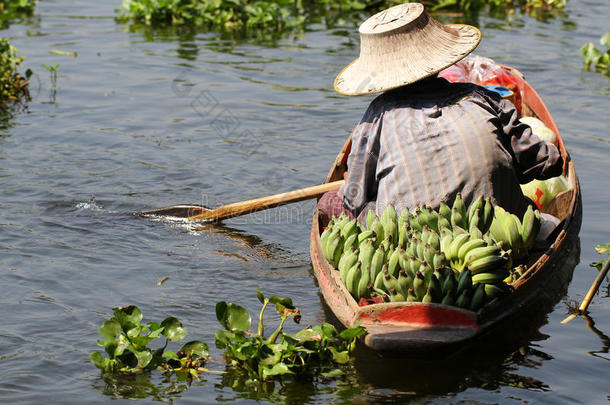
[[352, 149], [347, 159], [347, 176], [339, 190], [343, 203], [356, 217], [368, 202], [377, 196], [377, 160], [379, 158], [379, 135], [381, 112], [374, 103], [352, 134]]

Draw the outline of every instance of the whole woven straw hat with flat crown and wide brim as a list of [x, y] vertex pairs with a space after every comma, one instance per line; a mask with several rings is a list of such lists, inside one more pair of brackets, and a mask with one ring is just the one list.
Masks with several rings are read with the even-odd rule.
[[360, 25], [360, 57], [335, 79], [346, 96], [379, 93], [414, 83], [453, 65], [477, 47], [481, 32], [444, 25], [420, 3], [381, 11]]

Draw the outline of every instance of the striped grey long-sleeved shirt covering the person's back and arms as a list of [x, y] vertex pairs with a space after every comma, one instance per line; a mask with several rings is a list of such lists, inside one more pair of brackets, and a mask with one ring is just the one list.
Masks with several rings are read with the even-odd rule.
[[[438, 208], [458, 192], [521, 215], [519, 183], [561, 173], [557, 149], [519, 123], [511, 103], [470, 83], [432, 78], [383, 93], [352, 134], [340, 191], [355, 215], [376, 202], [398, 210]], [[365, 212], [366, 214], [366, 212]]]

